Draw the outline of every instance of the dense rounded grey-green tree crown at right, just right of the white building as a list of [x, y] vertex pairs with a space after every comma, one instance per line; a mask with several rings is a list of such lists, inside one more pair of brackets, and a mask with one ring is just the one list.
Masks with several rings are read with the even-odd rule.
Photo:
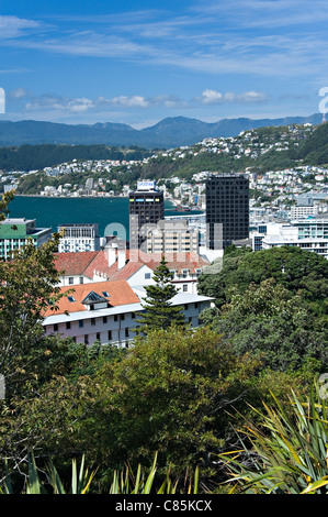
[[272, 278], [259, 286], [251, 284], [242, 294], [235, 289], [228, 304], [203, 317], [238, 354], [261, 354], [267, 367], [282, 372], [297, 372], [307, 365], [327, 370], [327, 332], [299, 295], [292, 295]]

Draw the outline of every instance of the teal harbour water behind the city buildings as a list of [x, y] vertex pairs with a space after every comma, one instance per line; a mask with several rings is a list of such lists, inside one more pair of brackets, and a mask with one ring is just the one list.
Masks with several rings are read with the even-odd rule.
[[[179, 216], [171, 202], [166, 201], [165, 208], [166, 216]], [[128, 198], [16, 196], [9, 210], [11, 218], [36, 219], [37, 228], [52, 228], [57, 231], [59, 224], [98, 223], [99, 233], [103, 237], [106, 227], [111, 224], [112, 229], [117, 227], [118, 237], [124, 239], [126, 235], [128, 239]]]

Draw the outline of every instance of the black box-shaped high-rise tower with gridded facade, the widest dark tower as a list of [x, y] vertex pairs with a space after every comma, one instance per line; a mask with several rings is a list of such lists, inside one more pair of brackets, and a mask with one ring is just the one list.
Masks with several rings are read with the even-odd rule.
[[206, 180], [206, 246], [219, 250], [249, 237], [249, 182], [242, 174]]

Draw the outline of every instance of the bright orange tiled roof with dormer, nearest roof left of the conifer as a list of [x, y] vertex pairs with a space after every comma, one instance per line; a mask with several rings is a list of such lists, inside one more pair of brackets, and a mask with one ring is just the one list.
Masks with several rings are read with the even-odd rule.
[[72, 296], [75, 301], [69, 301], [67, 296], [60, 298], [57, 302], [58, 310], [49, 308], [44, 316], [63, 315], [65, 311], [77, 312], [79, 310], [86, 310], [82, 300], [93, 292], [101, 297], [104, 297], [103, 293], [108, 293], [105, 297], [112, 307], [127, 304], [138, 304], [139, 298], [129, 287], [126, 280], [109, 280], [109, 282], [95, 282], [91, 284], [79, 284], [73, 287], [61, 287], [60, 293], [67, 293], [72, 290], [68, 296]]

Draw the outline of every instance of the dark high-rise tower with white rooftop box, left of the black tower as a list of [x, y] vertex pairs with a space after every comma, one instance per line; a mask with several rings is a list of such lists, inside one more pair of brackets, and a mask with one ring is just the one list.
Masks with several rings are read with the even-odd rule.
[[129, 248], [143, 249], [147, 231], [165, 218], [163, 193], [155, 182], [138, 182], [137, 190], [129, 193]]

